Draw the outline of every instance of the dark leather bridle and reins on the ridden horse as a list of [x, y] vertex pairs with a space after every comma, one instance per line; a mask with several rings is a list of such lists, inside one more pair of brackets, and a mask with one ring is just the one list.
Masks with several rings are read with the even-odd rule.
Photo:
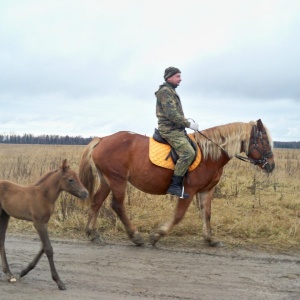
[[[209, 137], [207, 137], [201, 131], [197, 130], [197, 132], [199, 134], [201, 134], [202, 136], [204, 136], [207, 140], [209, 140], [210, 142], [215, 144], [217, 147], [219, 147], [229, 157], [227, 151], [222, 146], [220, 146], [217, 143], [215, 143], [214, 141], [212, 141]], [[259, 141], [262, 145], [262, 149], [260, 147], [258, 147]], [[264, 131], [259, 130], [256, 125], [253, 125], [252, 131], [251, 131], [251, 137], [250, 137], [249, 152], [247, 154], [247, 157], [244, 157], [241, 155], [235, 155], [235, 157], [240, 159], [241, 161], [250, 162], [254, 165], [261, 164], [262, 168], [267, 168], [267, 166], [269, 165], [268, 158], [273, 156], [273, 152], [268, 151], [266, 149], [267, 146], [270, 147], [269, 140], [267, 138], [267, 132], [265, 130]], [[257, 151], [260, 154], [260, 159], [254, 159], [254, 158], [249, 157], [253, 151]]]

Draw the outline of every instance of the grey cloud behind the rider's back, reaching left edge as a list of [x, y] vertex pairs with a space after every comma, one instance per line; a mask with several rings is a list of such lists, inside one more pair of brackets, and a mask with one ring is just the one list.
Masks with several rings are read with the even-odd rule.
[[62, 93], [80, 97], [105, 94], [115, 77], [109, 64], [92, 59], [86, 64], [78, 64], [76, 59], [25, 57], [0, 68], [3, 70], [1, 92], [20, 95]]

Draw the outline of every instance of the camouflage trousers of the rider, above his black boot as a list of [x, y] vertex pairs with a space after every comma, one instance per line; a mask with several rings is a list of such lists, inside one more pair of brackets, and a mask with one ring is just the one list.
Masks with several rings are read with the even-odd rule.
[[174, 175], [184, 176], [195, 158], [195, 150], [186, 138], [184, 131], [159, 131], [160, 135], [175, 149], [179, 159], [175, 165]]

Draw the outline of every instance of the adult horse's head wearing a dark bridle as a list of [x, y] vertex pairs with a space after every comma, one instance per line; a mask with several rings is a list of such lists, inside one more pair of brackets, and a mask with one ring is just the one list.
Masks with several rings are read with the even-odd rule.
[[270, 139], [267, 130], [259, 119], [257, 124], [252, 127], [247, 156], [253, 164], [258, 165], [267, 173], [271, 173], [275, 168]]

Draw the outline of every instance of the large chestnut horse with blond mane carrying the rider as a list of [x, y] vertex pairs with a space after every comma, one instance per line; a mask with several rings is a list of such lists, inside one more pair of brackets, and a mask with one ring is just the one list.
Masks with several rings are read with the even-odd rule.
[[[202, 153], [201, 163], [188, 172], [184, 180], [184, 190], [188, 199], [178, 199], [174, 217], [150, 234], [154, 246], [166, 236], [185, 215], [194, 195], [200, 196], [203, 215], [203, 236], [210, 246], [222, 246], [211, 235], [211, 201], [215, 185], [219, 182], [223, 167], [230, 159], [245, 152], [250, 162], [267, 173], [275, 167], [272, 139], [261, 120], [249, 123], [230, 123], [195, 132], [195, 139]], [[94, 192], [95, 168], [100, 179], [100, 187]], [[136, 245], [144, 243], [137, 228], [126, 215], [124, 197], [127, 182], [137, 189], [155, 195], [166, 194], [173, 170], [154, 165], [149, 159], [149, 137], [121, 131], [94, 138], [85, 148], [79, 168], [79, 177], [88, 189], [91, 200], [86, 233], [94, 242], [101, 242], [95, 230], [99, 209], [112, 192], [112, 208], [125, 226], [130, 240]]]

